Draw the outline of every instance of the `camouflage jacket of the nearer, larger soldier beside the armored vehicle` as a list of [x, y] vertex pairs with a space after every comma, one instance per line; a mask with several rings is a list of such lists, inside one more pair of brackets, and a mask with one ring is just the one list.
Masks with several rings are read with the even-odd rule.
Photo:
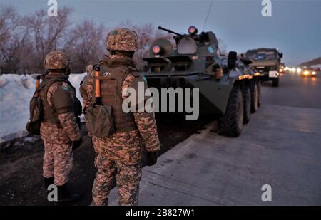
[[[117, 56], [111, 56], [111, 59]], [[105, 59], [108, 59], [106, 56]], [[83, 79], [80, 91], [83, 98], [83, 107], [93, 103], [93, 70], [88, 72], [88, 75]], [[122, 98], [125, 90], [131, 85], [134, 75], [129, 73], [122, 84]], [[136, 112], [133, 113], [137, 130], [130, 132], [115, 132], [113, 135], [105, 138], [93, 137], [93, 142], [103, 145], [96, 152], [106, 154], [109, 159], [116, 161], [126, 161], [135, 163], [141, 159], [141, 144], [144, 145], [148, 152], [155, 152], [160, 150], [161, 145], [158, 139], [158, 132], [156, 127], [156, 120], [154, 113]]]

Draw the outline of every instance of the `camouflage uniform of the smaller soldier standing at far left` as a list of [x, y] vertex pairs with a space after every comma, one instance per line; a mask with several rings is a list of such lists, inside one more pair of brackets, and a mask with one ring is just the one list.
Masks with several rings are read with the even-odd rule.
[[[59, 53], [51, 52], [46, 57], [46, 66], [55, 66]], [[58, 54], [58, 55], [57, 55]], [[54, 57], [54, 58], [51, 58]], [[60, 67], [60, 66], [58, 66]], [[57, 68], [58, 69], [58, 68]], [[61, 73], [49, 72], [46, 78], [66, 77]], [[71, 88], [68, 83], [65, 82], [54, 82], [48, 88], [48, 91], [44, 96], [50, 108], [55, 108], [55, 100], [58, 100], [59, 96], [57, 91], [64, 90], [68, 91], [71, 99], [76, 98], [76, 91]], [[41, 93], [45, 91], [42, 90]], [[42, 98], [41, 97], [41, 98]], [[73, 103], [71, 103], [73, 105]], [[46, 114], [46, 112], [44, 112]], [[44, 116], [46, 117], [46, 115]], [[72, 154], [72, 142], [81, 139], [79, 127], [76, 122], [75, 113], [73, 111], [63, 112], [58, 114], [59, 125], [56, 125], [50, 121], [44, 120], [41, 123], [41, 138], [44, 140], [44, 164], [43, 164], [43, 175], [45, 178], [54, 177], [54, 184], [62, 186], [66, 184], [68, 180], [68, 174], [72, 168], [73, 154]]]

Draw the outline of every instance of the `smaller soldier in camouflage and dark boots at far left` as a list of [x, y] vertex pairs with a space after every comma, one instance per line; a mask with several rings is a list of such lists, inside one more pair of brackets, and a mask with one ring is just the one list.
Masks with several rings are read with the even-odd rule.
[[69, 58], [63, 52], [48, 53], [46, 75], [42, 81], [45, 86], [39, 93], [44, 105], [40, 130], [44, 140], [44, 184], [46, 189], [50, 184], [57, 186], [58, 201], [72, 201], [79, 197], [66, 187], [73, 164], [73, 150], [81, 145], [82, 140], [75, 112], [76, 90], [68, 82], [68, 64]]

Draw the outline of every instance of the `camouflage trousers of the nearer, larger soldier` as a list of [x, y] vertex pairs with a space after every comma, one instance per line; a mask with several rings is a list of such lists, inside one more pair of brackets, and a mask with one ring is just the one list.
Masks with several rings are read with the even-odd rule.
[[141, 180], [141, 163], [123, 164], [106, 159], [96, 154], [96, 178], [93, 182], [93, 206], [108, 204], [108, 194], [114, 186], [115, 179], [118, 189], [118, 203], [121, 206], [138, 204], [139, 181]]

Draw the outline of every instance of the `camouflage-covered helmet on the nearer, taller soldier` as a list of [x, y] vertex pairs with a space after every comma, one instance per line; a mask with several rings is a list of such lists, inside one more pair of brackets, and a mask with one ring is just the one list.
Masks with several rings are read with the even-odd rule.
[[137, 51], [137, 33], [127, 28], [116, 28], [108, 33], [106, 47], [108, 51]]

